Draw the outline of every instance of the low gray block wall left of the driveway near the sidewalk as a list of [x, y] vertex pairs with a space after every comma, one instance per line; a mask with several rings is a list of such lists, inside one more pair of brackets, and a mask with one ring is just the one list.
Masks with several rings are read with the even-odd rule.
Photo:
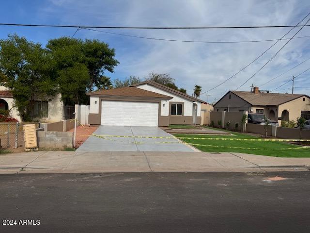
[[39, 148], [73, 148], [73, 133], [38, 131]]

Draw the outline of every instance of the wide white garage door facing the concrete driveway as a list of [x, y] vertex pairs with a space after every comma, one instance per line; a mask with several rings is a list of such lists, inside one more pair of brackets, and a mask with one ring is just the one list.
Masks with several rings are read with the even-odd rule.
[[158, 103], [103, 100], [101, 125], [158, 126]]

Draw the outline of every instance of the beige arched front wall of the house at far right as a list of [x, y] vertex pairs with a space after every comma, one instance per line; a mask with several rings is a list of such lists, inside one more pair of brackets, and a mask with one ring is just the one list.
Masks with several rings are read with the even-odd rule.
[[[303, 101], [305, 98], [305, 101]], [[310, 111], [310, 99], [308, 97], [300, 97], [296, 100], [292, 100], [279, 105], [278, 116], [281, 117], [282, 111], [287, 110], [289, 112], [289, 119], [296, 120], [297, 117], [301, 116], [301, 111]], [[279, 120], [279, 124], [281, 120]]]

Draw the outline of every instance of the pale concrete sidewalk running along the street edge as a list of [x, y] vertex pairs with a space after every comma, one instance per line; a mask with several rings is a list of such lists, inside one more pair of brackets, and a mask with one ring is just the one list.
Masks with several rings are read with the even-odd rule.
[[0, 155], [0, 173], [308, 170], [310, 158], [243, 153], [37, 151]]

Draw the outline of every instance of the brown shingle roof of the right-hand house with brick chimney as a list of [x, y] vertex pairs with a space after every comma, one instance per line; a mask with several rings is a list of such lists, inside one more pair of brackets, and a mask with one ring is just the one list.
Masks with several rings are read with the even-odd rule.
[[301, 94], [281, 94], [281, 93], [262, 93], [257, 95], [248, 91], [231, 91], [233, 94], [239, 96], [243, 100], [246, 100], [252, 105], [280, 105], [282, 103], [295, 100], [299, 97], [306, 96]]

